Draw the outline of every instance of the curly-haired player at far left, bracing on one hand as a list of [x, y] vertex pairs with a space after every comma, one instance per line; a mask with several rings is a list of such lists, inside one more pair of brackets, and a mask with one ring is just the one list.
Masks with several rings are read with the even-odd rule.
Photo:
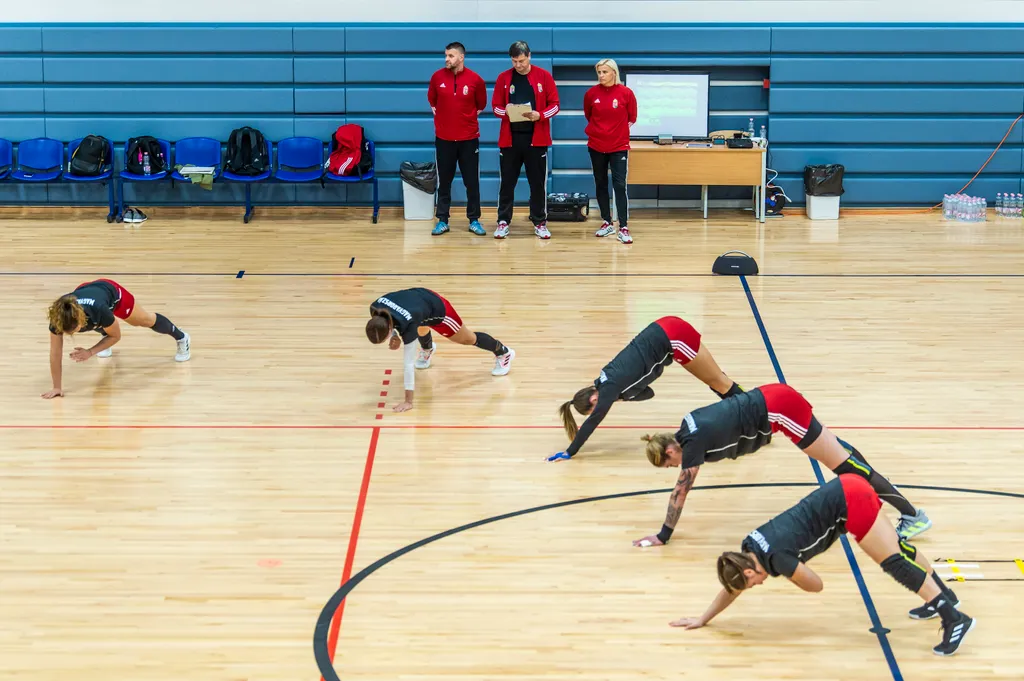
[[167, 334], [177, 341], [175, 361], [187, 361], [191, 357], [191, 338], [160, 313], [147, 312], [135, 304], [135, 296], [117, 282], [108, 279], [86, 282], [74, 292], [57, 298], [47, 311], [50, 322], [50, 378], [53, 389], [43, 393], [45, 399], [62, 397], [61, 359], [63, 337], [83, 331], [98, 331], [102, 338], [92, 347], [76, 347], [71, 353], [75, 361], [85, 361], [93, 355], [109, 357], [111, 348], [121, 340], [121, 325], [124, 320], [133, 327], [153, 329], [158, 334]]

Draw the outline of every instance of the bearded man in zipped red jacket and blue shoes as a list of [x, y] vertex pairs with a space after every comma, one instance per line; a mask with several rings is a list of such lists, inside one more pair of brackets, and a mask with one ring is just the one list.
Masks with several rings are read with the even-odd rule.
[[480, 112], [487, 105], [487, 86], [466, 68], [462, 43], [444, 47], [444, 68], [430, 78], [427, 100], [434, 113], [434, 150], [437, 162], [437, 224], [430, 232], [449, 230], [452, 182], [456, 164], [466, 185], [466, 217], [469, 230], [482, 236], [480, 224]]

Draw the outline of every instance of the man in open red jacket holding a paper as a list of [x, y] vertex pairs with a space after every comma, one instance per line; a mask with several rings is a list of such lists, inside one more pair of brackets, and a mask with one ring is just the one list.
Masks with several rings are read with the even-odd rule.
[[[529, 181], [529, 220], [534, 233], [551, 239], [548, 231], [548, 147], [551, 145], [551, 117], [558, 113], [558, 88], [551, 74], [529, 62], [529, 45], [520, 41], [509, 47], [512, 68], [498, 76], [490, 103], [502, 120], [498, 135], [501, 184], [498, 188], [498, 228], [495, 239], [509, 235], [512, 204], [519, 170], [526, 167]], [[529, 104], [527, 120], [511, 123], [508, 104]]]

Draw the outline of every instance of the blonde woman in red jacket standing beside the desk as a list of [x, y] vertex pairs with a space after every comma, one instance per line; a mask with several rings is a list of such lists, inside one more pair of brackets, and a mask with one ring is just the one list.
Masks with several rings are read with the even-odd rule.
[[627, 226], [629, 196], [626, 194], [626, 176], [629, 172], [630, 126], [637, 121], [637, 99], [633, 90], [623, 85], [618, 65], [613, 59], [597, 62], [598, 84], [587, 90], [583, 98], [583, 114], [587, 117], [587, 148], [594, 167], [597, 185], [597, 205], [601, 207], [604, 224], [597, 237], [615, 232], [611, 223], [608, 202], [608, 168], [611, 168], [611, 186], [615, 190], [618, 212], [618, 241], [632, 244], [633, 237]]

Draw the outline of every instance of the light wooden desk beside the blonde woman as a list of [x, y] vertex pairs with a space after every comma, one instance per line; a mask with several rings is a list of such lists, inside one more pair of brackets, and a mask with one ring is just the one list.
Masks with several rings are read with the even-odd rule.
[[630, 142], [628, 184], [699, 184], [708, 218], [708, 186], [754, 187], [754, 215], [765, 221], [765, 152], [767, 150], [686, 146], [684, 143]]

